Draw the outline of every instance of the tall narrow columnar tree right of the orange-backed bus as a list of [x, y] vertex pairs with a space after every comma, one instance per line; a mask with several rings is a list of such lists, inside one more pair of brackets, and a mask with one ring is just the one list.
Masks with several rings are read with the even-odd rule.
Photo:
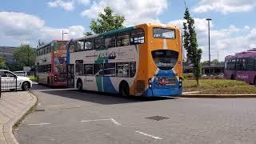
[[184, 48], [187, 51], [187, 58], [189, 58], [190, 62], [193, 64], [194, 78], [197, 80], [197, 84], [199, 85], [199, 79], [202, 76], [200, 64], [202, 50], [198, 49], [197, 34], [194, 30], [194, 19], [191, 18], [188, 8], [186, 8], [184, 19], [186, 20], [186, 22], [183, 22]]

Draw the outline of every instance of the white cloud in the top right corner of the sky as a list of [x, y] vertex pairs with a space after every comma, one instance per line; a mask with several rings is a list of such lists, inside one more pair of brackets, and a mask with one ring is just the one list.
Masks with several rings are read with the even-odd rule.
[[201, 0], [199, 5], [194, 7], [196, 13], [217, 11], [222, 14], [234, 12], [246, 12], [256, 7], [254, 0]]

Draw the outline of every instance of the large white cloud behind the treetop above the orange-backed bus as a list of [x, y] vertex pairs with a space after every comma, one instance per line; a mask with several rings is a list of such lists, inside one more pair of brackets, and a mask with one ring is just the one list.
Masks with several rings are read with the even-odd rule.
[[116, 14], [125, 16], [126, 26], [143, 22], [160, 22], [158, 15], [167, 9], [167, 0], [100, 0], [94, 1], [89, 9], [83, 10], [81, 15], [96, 18], [106, 6], [110, 6]]

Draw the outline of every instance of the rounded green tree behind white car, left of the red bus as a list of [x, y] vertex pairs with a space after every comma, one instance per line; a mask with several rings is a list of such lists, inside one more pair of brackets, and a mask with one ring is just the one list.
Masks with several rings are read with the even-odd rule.
[[14, 51], [16, 63], [12, 69], [22, 70], [23, 66], [34, 66], [35, 50], [29, 44], [22, 44]]

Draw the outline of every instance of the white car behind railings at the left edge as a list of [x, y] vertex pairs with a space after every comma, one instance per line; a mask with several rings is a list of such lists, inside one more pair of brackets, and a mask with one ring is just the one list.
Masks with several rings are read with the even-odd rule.
[[9, 70], [0, 70], [1, 76], [1, 89], [2, 90], [14, 90], [16, 89], [16, 78], [17, 78], [17, 89], [30, 90], [32, 87], [32, 81], [30, 78], [17, 76]]

